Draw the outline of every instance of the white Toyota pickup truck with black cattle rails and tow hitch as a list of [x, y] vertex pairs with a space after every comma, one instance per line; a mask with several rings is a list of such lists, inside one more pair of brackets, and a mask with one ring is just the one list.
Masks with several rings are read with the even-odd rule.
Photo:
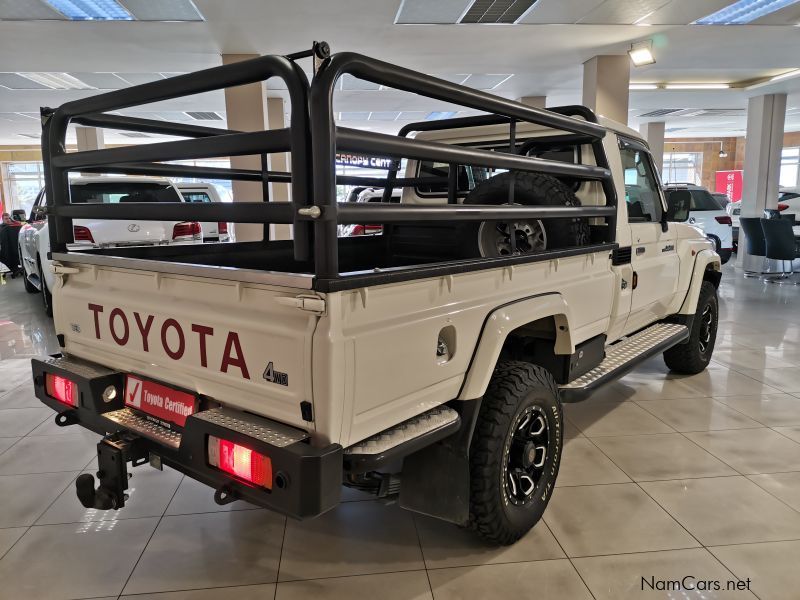
[[[309, 56], [310, 84], [296, 64]], [[332, 108], [344, 74], [485, 114], [347, 129]], [[273, 77], [291, 97], [282, 130], [110, 114]], [[99, 485], [76, 482], [84, 506], [133, 501], [128, 463], [149, 463], [223, 504], [310, 518], [345, 485], [510, 544], [550, 500], [562, 402], [591, 401], [656, 354], [679, 373], [711, 359], [719, 256], [671, 222], [690, 199], [677, 193], [667, 213], [647, 144], [585, 107], [531, 108], [321, 43], [44, 115], [61, 352], [33, 360], [33, 380], [58, 425], [102, 436]], [[71, 122], [193, 139], [67, 154]], [[392, 166], [360, 183], [336, 175], [337, 151]], [[225, 176], [261, 182], [264, 200], [289, 185], [292, 202], [77, 205], [65, 189], [72, 170], [169, 175], [166, 161], [273, 152], [289, 153], [290, 173]], [[337, 204], [337, 185], [382, 186], [384, 202]], [[69, 250], [72, 219], [137, 212], [261, 223], [265, 238]], [[293, 239], [269, 239], [274, 223]], [[358, 223], [383, 229], [337, 237]]]

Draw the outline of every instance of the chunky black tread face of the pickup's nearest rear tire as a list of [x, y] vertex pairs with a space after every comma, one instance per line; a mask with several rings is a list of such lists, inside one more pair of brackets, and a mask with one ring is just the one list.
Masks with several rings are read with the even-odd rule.
[[537, 385], [558, 398], [558, 386], [546, 369], [521, 361], [500, 361], [481, 403], [470, 451], [470, 526], [492, 543], [513, 544], [526, 533], [506, 526], [496, 484], [509, 421], [519, 400]]

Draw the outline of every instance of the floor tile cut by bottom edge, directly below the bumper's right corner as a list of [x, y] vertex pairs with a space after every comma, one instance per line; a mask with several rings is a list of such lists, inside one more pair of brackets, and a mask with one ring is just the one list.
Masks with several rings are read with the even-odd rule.
[[[425, 571], [359, 575], [278, 584], [275, 600], [433, 600]], [[237, 599], [238, 600], [238, 599]]]

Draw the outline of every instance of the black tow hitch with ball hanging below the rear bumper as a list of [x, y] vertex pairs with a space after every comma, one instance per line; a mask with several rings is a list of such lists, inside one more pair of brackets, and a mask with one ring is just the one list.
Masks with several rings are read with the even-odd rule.
[[148, 452], [141, 439], [127, 432], [112, 433], [97, 444], [97, 478], [100, 486], [95, 489], [94, 476], [84, 473], [75, 480], [78, 500], [85, 508], [119, 510], [125, 506], [128, 494], [127, 463], [134, 467], [148, 461]]

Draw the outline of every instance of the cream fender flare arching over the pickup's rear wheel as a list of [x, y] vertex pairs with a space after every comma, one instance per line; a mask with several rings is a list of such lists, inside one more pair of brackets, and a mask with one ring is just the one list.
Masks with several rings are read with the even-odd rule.
[[572, 354], [575, 344], [569, 326], [572, 322], [570, 309], [560, 294], [552, 292], [515, 300], [490, 312], [483, 323], [458, 399], [473, 400], [483, 396], [500, 351], [513, 330], [550, 317], [556, 324], [556, 354]]

